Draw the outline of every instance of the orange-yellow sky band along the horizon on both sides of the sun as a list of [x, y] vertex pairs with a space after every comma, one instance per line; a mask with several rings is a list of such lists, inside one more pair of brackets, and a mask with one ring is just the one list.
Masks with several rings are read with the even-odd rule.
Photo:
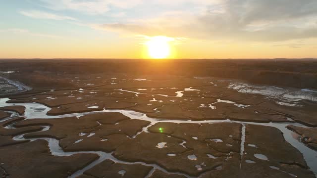
[[[313, 45], [307, 47], [260, 43], [215, 45], [209, 41], [188, 39], [181, 45], [170, 46], [171, 55], [167, 58], [173, 59], [317, 57], [317, 48]], [[125, 39], [111, 45], [87, 44], [81, 40], [66, 43], [60, 43], [58, 40], [44, 43], [41, 40], [34, 40], [25, 44], [20, 42], [0, 44], [0, 48], [0, 58], [151, 58], [146, 45], [139, 44], [136, 40]]]

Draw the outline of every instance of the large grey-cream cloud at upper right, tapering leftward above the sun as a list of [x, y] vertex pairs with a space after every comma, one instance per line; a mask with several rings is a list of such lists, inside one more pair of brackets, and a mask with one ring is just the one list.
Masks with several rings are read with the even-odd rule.
[[[187, 0], [189, 1], [189, 0]], [[211, 0], [212, 1], [212, 0]], [[97, 28], [120, 33], [182, 36], [209, 40], [287, 41], [317, 38], [316, 0], [196, 1], [193, 9], [162, 13], [155, 18], [105, 23]], [[166, 2], [167, 3], [167, 2]], [[181, 3], [181, 2], [180, 2]], [[193, 2], [194, 3], [194, 2]], [[200, 8], [198, 8], [200, 7]]]

